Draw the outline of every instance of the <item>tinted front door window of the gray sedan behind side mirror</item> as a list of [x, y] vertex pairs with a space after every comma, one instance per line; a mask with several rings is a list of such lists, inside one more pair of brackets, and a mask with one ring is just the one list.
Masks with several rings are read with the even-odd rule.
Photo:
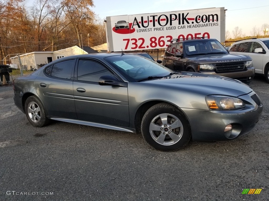
[[77, 67], [77, 80], [98, 82], [103, 75], [113, 75], [105, 66], [98, 62], [80, 59]]

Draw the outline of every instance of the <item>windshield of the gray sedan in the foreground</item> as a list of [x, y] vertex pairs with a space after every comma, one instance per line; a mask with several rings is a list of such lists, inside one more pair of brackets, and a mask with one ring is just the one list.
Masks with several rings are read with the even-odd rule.
[[168, 76], [174, 72], [155, 61], [139, 55], [117, 55], [105, 58], [114, 68], [129, 81], [135, 82], [154, 76]]

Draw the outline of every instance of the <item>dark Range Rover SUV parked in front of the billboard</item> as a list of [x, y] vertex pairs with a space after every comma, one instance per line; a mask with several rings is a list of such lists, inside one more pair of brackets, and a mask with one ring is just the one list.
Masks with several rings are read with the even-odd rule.
[[173, 39], [166, 49], [163, 65], [175, 71], [208, 73], [252, 81], [255, 69], [246, 55], [229, 54], [216, 39]]

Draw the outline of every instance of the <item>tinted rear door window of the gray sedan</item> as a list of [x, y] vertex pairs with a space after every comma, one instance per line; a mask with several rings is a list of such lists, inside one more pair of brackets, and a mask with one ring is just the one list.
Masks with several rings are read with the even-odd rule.
[[64, 79], [71, 79], [71, 74], [74, 65], [75, 65], [75, 59], [58, 62], [53, 65], [51, 76]]

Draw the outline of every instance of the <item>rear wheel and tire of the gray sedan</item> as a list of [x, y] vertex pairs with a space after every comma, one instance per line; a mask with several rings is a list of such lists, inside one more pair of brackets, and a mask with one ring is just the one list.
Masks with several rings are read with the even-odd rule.
[[42, 127], [49, 123], [44, 106], [36, 96], [29, 96], [24, 104], [24, 111], [30, 124]]

